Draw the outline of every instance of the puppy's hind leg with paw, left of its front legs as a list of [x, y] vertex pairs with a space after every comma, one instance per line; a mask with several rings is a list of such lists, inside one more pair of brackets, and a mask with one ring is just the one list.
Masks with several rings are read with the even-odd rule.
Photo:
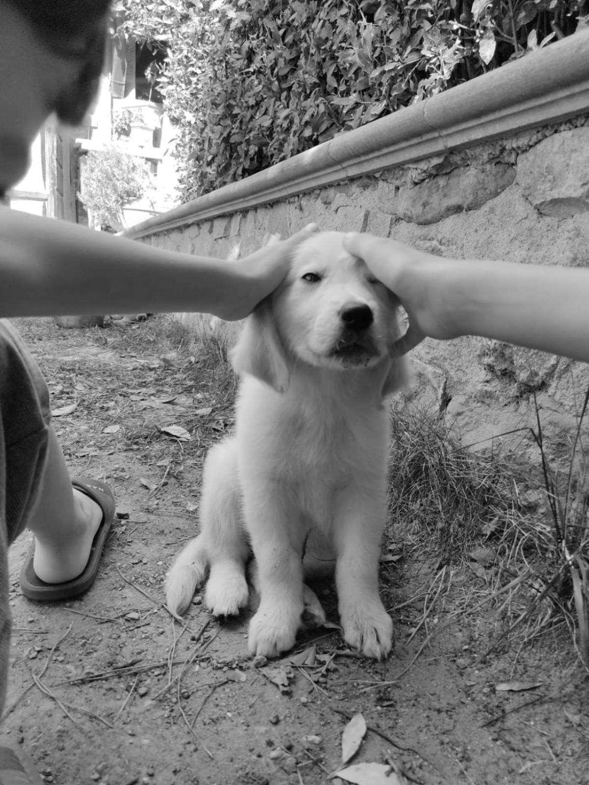
[[236, 615], [249, 599], [245, 565], [250, 548], [242, 524], [240, 480], [232, 439], [221, 442], [207, 455], [200, 521], [210, 562], [205, 603], [215, 616]]

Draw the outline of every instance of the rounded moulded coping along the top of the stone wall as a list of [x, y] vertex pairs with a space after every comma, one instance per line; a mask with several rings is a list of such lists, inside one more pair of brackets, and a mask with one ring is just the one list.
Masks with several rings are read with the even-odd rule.
[[589, 30], [130, 228], [140, 239], [589, 111]]

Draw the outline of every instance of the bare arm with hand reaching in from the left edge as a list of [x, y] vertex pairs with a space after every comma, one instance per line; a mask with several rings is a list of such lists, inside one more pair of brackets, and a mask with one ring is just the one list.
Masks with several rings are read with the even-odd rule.
[[225, 261], [0, 208], [0, 316], [200, 311], [242, 319], [313, 227]]

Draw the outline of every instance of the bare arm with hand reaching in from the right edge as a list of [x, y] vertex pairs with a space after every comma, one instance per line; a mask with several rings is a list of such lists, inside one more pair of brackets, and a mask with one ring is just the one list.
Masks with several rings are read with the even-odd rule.
[[589, 269], [444, 259], [360, 234], [346, 247], [408, 312], [401, 352], [480, 335], [589, 362]]

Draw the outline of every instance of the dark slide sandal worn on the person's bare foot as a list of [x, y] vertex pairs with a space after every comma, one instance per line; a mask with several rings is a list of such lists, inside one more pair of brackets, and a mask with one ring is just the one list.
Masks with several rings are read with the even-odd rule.
[[[46, 583], [35, 575], [33, 556], [35, 554], [35, 540], [27, 551], [23, 567], [20, 570], [20, 588], [25, 597], [40, 602], [57, 600], [71, 600], [79, 597], [90, 589], [98, 572], [104, 542], [111, 530], [112, 520], [115, 517], [115, 498], [108, 485], [99, 480], [90, 480], [87, 477], [76, 477], [71, 480], [73, 487], [90, 496], [102, 509], [102, 521], [97, 533], [94, 535], [90, 557], [81, 575], [64, 583]], [[2, 783], [2, 779], [0, 779]]]

